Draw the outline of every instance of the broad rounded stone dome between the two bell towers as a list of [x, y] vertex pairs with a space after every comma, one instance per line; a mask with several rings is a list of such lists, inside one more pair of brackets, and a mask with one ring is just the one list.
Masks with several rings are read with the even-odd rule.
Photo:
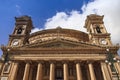
[[55, 29], [46, 29], [46, 30], [32, 33], [29, 37], [29, 44], [50, 41], [54, 39], [65, 39], [65, 40], [76, 41], [76, 42], [89, 41], [87, 33], [84, 33], [78, 30], [63, 29], [63, 28], [57, 27]]

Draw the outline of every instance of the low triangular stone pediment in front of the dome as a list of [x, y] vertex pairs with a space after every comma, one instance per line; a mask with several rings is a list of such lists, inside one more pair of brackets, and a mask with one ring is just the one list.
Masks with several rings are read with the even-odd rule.
[[77, 42], [77, 41], [70, 41], [70, 40], [62, 40], [62, 39], [56, 39], [46, 42], [40, 42], [36, 44], [30, 44], [27, 45], [27, 47], [32, 48], [99, 48], [99, 46], [92, 45], [86, 42]]

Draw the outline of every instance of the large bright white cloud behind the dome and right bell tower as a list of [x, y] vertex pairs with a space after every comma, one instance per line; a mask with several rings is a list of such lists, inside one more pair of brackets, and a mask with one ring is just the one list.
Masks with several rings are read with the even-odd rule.
[[56, 15], [47, 19], [45, 29], [56, 28], [61, 26], [63, 28], [76, 29], [86, 31], [83, 26], [87, 15], [96, 13], [104, 15], [104, 24], [107, 31], [111, 33], [112, 41], [114, 44], [120, 44], [120, 0], [94, 0], [88, 4], [84, 4], [79, 11], [72, 10], [69, 13], [57, 12]]

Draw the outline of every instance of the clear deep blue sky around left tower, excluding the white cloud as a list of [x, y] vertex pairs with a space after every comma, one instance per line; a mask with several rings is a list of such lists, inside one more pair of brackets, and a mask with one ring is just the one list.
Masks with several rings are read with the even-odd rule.
[[56, 12], [80, 10], [87, 0], [0, 0], [0, 45], [7, 45], [14, 29], [15, 16], [29, 15], [35, 27], [43, 28]]

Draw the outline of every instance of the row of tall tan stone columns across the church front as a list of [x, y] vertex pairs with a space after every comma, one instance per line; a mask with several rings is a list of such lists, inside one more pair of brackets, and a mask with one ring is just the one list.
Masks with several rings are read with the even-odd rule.
[[[69, 63], [63, 63], [62, 64], [62, 69], [63, 69], [63, 80], [69, 80]], [[14, 71], [12, 73], [12, 77], [10, 80], [16, 80], [16, 73], [18, 70], [18, 65], [19, 63], [14, 63]], [[23, 75], [23, 80], [29, 80], [29, 73], [30, 73], [30, 66], [32, 64], [30, 63], [26, 63], [25, 64], [25, 69], [24, 69], [24, 75]], [[44, 80], [43, 79], [43, 63], [38, 63], [37, 64], [37, 71], [36, 71], [36, 80]], [[80, 62], [76, 62], [75, 63], [75, 70], [76, 70], [76, 79], [77, 80], [83, 80], [83, 75], [82, 75], [82, 69], [81, 69], [81, 63]], [[56, 80], [55, 78], [55, 68], [56, 68], [56, 63], [51, 62], [50, 63], [50, 71], [49, 71], [49, 80]], [[110, 73], [108, 71], [107, 68], [107, 64], [105, 64], [104, 62], [100, 63], [101, 66], [101, 72], [102, 72], [102, 76], [104, 78], [104, 80], [112, 80]], [[92, 62], [87, 63], [87, 67], [88, 67], [88, 71], [89, 71], [89, 78], [90, 80], [98, 80], [95, 74], [95, 70], [94, 70], [94, 64]], [[120, 66], [118, 63], [116, 63], [116, 67], [117, 70], [120, 74]], [[87, 73], [86, 73], [87, 74]]]

